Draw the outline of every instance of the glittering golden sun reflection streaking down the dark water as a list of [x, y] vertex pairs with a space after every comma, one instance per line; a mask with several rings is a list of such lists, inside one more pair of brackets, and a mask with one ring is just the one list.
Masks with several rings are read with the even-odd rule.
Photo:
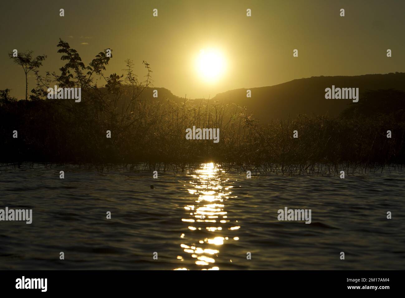
[[[224, 171], [213, 163], [203, 164], [196, 170], [196, 174], [192, 175], [195, 179], [190, 181], [188, 189], [192, 199], [184, 206], [189, 213], [181, 219], [188, 225], [188, 229], [180, 235], [183, 240], [180, 247], [184, 257], [178, 255], [177, 259], [183, 262], [185, 257], [191, 257], [195, 266], [201, 270], [219, 270], [215, 259], [221, 253], [224, 242], [239, 240], [239, 237], [233, 234], [240, 226], [230, 223], [228, 212], [225, 210], [226, 201], [236, 196], [231, 196], [233, 186], [229, 185], [228, 179], [222, 173]], [[179, 267], [175, 270], [189, 269]]]

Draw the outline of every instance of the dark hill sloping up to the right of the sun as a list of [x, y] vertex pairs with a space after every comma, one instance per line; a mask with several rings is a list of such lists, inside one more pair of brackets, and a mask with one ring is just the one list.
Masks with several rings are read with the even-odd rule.
[[[272, 119], [295, 118], [298, 114], [338, 116], [352, 101], [350, 99], [325, 99], [325, 88], [359, 88], [359, 101], [367, 90], [396, 89], [405, 91], [405, 73], [388, 73], [357, 76], [320, 76], [292, 81], [274, 86], [242, 88], [217, 94], [210, 102], [236, 103], [254, 111], [261, 123]], [[252, 97], [246, 97], [246, 90]]]

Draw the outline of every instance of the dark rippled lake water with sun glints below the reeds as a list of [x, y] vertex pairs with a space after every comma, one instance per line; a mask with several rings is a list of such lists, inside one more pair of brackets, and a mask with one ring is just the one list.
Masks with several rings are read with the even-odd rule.
[[[32, 209], [33, 219], [0, 221], [0, 269], [403, 270], [404, 182], [388, 169], [247, 179], [203, 164], [153, 179], [2, 167], [0, 209]], [[285, 207], [311, 209], [311, 223], [278, 221]]]

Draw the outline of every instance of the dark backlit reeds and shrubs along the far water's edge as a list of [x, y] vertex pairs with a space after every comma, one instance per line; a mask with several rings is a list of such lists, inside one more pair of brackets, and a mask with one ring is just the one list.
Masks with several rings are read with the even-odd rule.
[[[337, 118], [299, 115], [260, 125], [247, 107], [235, 104], [143, 99], [142, 92], [152, 86], [145, 61], [141, 81], [130, 59], [125, 75], [105, 75], [107, 49], [85, 66], [68, 43], [60, 40], [58, 47], [66, 64], [59, 74], [40, 75], [40, 65], [34, 67], [37, 84], [29, 100], [11, 97], [8, 89], [0, 91], [2, 163], [94, 164], [103, 169], [128, 165], [131, 170], [183, 172], [190, 165], [214, 162], [225, 169], [280, 174], [405, 165], [403, 91], [366, 92]], [[105, 87], [97, 85], [98, 79]], [[81, 102], [47, 99], [47, 88], [53, 85], [81, 88]], [[220, 129], [219, 143], [186, 139], [186, 129], [193, 126]]]

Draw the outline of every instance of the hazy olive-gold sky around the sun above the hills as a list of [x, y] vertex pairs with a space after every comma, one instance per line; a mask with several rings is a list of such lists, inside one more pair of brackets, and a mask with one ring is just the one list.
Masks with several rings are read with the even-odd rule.
[[[155, 8], [158, 17], [152, 15]], [[339, 16], [341, 8], [345, 17]], [[57, 71], [64, 64], [59, 38], [86, 65], [103, 49], [113, 49], [108, 75], [124, 73], [124, 60], [131, 58], [142, 77], [146, 60], [154, 86], [191, 98], [318, 75], [404, 72], [404, 13], [402, 0], [2, 1], [0, 89], [25, 96], [21, 66], [7, 56], [13, 49], [46, 54], [41, 72]], [[227, 65], [211, 83], [194, 67], [200, 49], [208, 47], [221, 51]], [[31, 77], [28, 90], [33, 87]]]

